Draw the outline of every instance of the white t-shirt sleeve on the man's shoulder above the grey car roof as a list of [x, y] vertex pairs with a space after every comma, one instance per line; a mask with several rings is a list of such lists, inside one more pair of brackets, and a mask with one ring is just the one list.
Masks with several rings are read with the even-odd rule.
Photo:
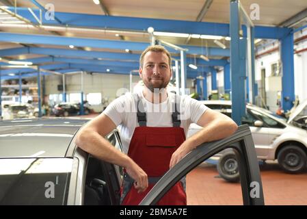
[[103, 111], [103, 114], [108, 116], [116, 126], [120, 125], [124, 120], [124, 100], [125, 95], [118, 97]]

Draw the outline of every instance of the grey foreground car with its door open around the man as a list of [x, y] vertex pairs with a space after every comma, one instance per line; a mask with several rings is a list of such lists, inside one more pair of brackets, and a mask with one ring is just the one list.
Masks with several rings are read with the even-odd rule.
[[[0, 123], [0, 205], [119, 205], [122, 170], [75, 144], [85, 119], [35, 118]], [[118, 131], [108, 140], [122, 150]], [[193, 168], [231, 145], [238, 152], [243, 203], [263, 205], [263, 189], [248, 126], [198, 146], [165, 173], [140, 205], [157, 201]], [[252, 196], [258, 183], [258, 196]]]

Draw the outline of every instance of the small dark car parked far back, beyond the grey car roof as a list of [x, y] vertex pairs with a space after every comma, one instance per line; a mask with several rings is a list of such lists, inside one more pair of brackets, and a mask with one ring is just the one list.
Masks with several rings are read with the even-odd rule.
[[[84, 114], [90, 114], [90, 108], [84, 106]], [[80, 114], [80, 103], [59, 103], [53, 107], [55, 116], [72, 116]]]

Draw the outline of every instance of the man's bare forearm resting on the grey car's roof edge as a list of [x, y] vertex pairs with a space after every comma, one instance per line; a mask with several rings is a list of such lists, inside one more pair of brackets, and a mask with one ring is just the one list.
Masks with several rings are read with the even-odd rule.
[[76, 140], [77, 146], [111, 164], [117, 164], [126, 168], [132, 162], [132, 159], [116, 149], [109, 141], [95, 131], [81, 131]]

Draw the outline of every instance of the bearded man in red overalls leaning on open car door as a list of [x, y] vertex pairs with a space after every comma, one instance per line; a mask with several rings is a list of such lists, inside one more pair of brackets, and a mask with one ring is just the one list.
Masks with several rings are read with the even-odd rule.
[[[228, 116], [165, 89], [172, 76], [171, 63], [164, 47], [148, 47], [140, 57], [139, 67], [144, 88], [113, 101], [77, 137], [77, 145], [84, 151], [124, 167], [123, 205], [139, 204], [159, 178], [196, 146], [226, 138], [237, 130]], [[177, 103], [172, 105], [172, 100]], [[135, 106], [134, 110], [131, 106]], [[190, 123], [204, 128], [185, 140]], [[118, 125], [124, 153], [103, 138]], [[183, 179], [158, 205], [186, 205], [184, 187]]]

